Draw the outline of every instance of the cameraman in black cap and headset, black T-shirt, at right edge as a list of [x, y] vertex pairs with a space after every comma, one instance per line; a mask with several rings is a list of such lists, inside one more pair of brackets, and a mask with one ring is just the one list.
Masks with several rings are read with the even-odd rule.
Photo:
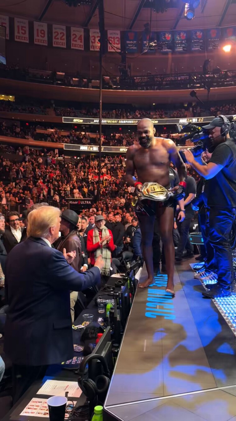
[[215, 298], [231, 294], [233, 258], [231, 230], [236, 218], [236, 144], [230, 138], [230, 122], [224, 116], [203, 126], [212, 141], [212, 157], [208, 165], [199, 164], [191, 151], [184, 151], [186, 160], [204, 177], [202, 187], [207, 212], [208, 240], [215, 253], [218, 282], [204, 296]]

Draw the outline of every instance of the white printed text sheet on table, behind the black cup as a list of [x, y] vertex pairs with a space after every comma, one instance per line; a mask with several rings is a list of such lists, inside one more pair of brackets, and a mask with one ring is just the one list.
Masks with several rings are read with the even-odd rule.
[[82, 390], [77, 381], [47, 380], [37, 394], [65, 396], [66, 392], [68, 392], [68, 397], [80, 397]]

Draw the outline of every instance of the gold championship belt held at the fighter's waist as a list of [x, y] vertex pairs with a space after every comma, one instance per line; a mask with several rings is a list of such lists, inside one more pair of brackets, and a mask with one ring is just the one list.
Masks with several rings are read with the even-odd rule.
[[132, 206], [136, 206], [137, 202], [144, 199], [154, 200], [155, 202], [165, 202], [173, 197], [173, 193], [169, 192], [165, 187], [158, 183], [144, 183], [141, 192], [136, 192], [132, 199]]

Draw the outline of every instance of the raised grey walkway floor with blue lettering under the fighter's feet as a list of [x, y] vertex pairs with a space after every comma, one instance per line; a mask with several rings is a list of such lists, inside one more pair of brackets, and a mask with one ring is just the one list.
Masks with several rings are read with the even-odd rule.
[[136, 290], [104, 421], [236, 421], [235, 330], [189, 263], [176, 268], [175, 298], [165, 296], [167, 275]]

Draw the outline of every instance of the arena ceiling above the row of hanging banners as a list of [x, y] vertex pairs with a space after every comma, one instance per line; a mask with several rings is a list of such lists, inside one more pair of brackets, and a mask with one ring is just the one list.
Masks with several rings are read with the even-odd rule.
[[[195, 18], [184, 18], [182, 0], [167, 0], [164, 13], [155, 13], [148, 6], [152, 0], [104, 0], [105, 29], [142, 30], [150, 22], [154, 31], [161, 29], [197, 29], [223, 27], [236, 23], [236, 0], [201, 0]], [[0, 13], [29, 20], [42, 20], [68, 26], [98, 28], [98, 0], [91, 5], [68, 7], [64, 0], [0, 0]]]

